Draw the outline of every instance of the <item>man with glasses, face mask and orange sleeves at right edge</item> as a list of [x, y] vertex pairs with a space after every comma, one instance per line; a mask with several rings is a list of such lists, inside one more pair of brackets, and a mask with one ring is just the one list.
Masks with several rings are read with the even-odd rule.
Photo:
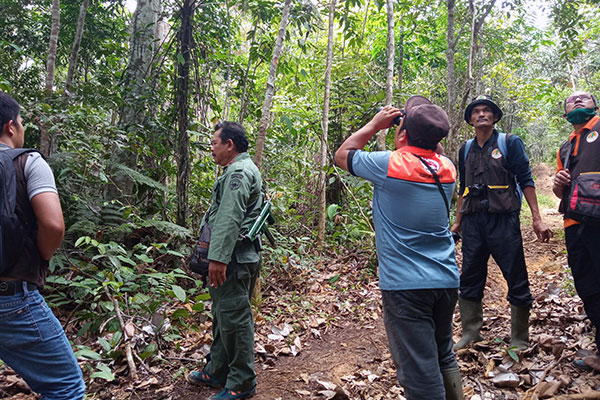
[[[565, 100], [564, 111], [573, 131], [558, 150], [552, 191], [561, 199], [569, 267], [600, 351], [600, 118], [596, 98], [582, 91]], [[600, 371], [600, 356], [590, 354], [573, 365]]]

